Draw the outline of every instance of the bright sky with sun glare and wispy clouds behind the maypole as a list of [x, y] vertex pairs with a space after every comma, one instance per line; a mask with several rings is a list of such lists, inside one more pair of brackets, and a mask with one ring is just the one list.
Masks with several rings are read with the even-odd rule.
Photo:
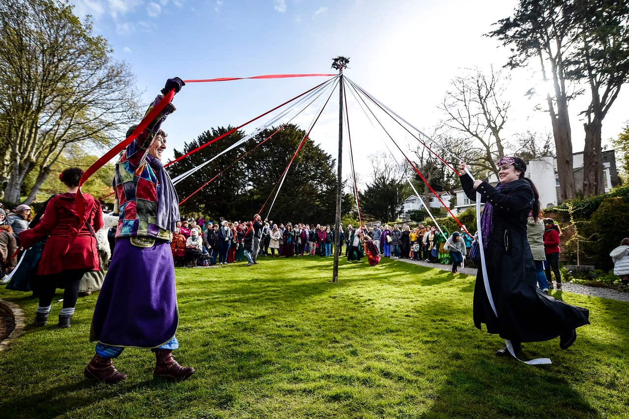
[[[452, 77], [464, 67], [501, 67], [508, 50], [482, 36], [509, 16], [514, 0], [72, 0], [79, 16], [91, 14], [94, 30], [114, 55], [131, 65], [148, 103], [165, 79], [205, 79], [274, 73], [333, 72], [331, 59], [350, 57], [348, 77], [420, 129], [441, 115]], [[532, 128], [550, 131], [548, 116], [534, 111], [524, 93], [538, 84], [532, 70], [511, 72], [505, 94], [513, 108], [506, 135]], [[216, 125], [240, 125], [315, 86], [317, 79], [278, 79], [189, 84], [175, 98], [178, 111], [164, 128], [169, 148]], [[353, 101], [353, 99], [352, 99]], [[351, 101], [350, 101], [351, 102]], [[606, 118], [603, 138], [615, 137], [629, 105], [621, 92]], [[311, 137], [336, 157], [338, 101], [331, 101]], [[572, 105], [575, 151], [582, 150], [583, 101]], [[306, 128], [315, 110], [296, 122]], [[362, 111], [350, 103], [352, 138], [360, 179], [370, 173], [367, 155], [384, 148]], [[251, 126], [253, 128], [253, 126]], [[400, 134], [401, 135], [401, 134]], [[401, 135], [404, 143], [409, 138]], [[211, 146], [211, 147], [214, 147]], [[226, 144], [216, 143], [216, 152]], [[169, 150], [170, 151], [170, 150]], [[165, 154], [172, 156], [172, 151]], [[401, 156], [396, 156], [401, 157]], [[348, 169], [348, 165], [344, 165]], [[346, 170], [343, 170], [347, 172]]]

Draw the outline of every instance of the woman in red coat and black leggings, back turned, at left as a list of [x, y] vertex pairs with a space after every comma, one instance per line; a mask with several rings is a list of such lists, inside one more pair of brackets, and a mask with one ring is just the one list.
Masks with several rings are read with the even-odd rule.
[[36, 286], [40, 293], [40, 301], [35, 326], [46, 325], [50, 304], [59, 286], [65, 288], [59, 327], [70, 327], [81, 277], [87, 271], [100, 270], [94, 232], [103, 226], [103, 212], [101, 204], [94, 197], [83, 194], [87, 221], [79, 225], [81, 221], [74, 197], [79, 189], [82, 174], [83, 170], [78, 167], [65, 169], [59, 175], [59, 179], [67, 186], [67, 193], [50, 199], [40, 223], [30, 230], [19, 233], [19, 242], [27, 249], [50, 235], [37, 269]]

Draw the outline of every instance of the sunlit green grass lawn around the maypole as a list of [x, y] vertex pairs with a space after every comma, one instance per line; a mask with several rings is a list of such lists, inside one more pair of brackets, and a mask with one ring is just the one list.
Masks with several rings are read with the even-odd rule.
[[[394, 260], [340, 267], [331, 258], [177, 269], [177, 360], [189, 381], [153, 380], [154, 356], [127, 349], [125, 383], [83, 369], [96, 295], [72, 328], [29, 327], [0, 354], [5, 418], [592, 417], [629, 416], [629, 304], [564, 293], [589, 308], [576, 344], [525, 345], [526, 366], [494, 355], [503, 342], [472, 325], [474, 278]], [[58, 298], [61, 298], [58, 291]], [[30, 293], [0, 289], [29, 316]]]

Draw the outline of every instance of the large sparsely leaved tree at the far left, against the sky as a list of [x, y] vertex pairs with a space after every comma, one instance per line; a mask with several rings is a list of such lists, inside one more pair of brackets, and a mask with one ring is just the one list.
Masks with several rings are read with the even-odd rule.
[[0, 4], [0, 124], [8, 138], [4, 198], [19, 201], [25, 177], [38, 169], [31, 203], [64, 148], [114, 141], [138, 118], [128, 65], [92, 36], [91, 22], [60, 0]]

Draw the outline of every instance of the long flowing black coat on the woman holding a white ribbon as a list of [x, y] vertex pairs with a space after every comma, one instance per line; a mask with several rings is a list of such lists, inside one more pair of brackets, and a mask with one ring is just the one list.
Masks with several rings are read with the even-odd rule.
[[496, 189], [482, 182], [476, 191], [467, 175], [460, 177], [465, 194], [493, 205], [493, 232], [487, 243], [485, 260], [489, 288], [498, 318], [494, 315], [479, 269], [474, 287], [474, 325], [487, 325], [514, 342], [540, 342], [589, 324], [589, 311], [559, 301], [537, 288], [535, 262], [526, 238], [526, 220], [533, 206], [533, 189], [525, 179]]

